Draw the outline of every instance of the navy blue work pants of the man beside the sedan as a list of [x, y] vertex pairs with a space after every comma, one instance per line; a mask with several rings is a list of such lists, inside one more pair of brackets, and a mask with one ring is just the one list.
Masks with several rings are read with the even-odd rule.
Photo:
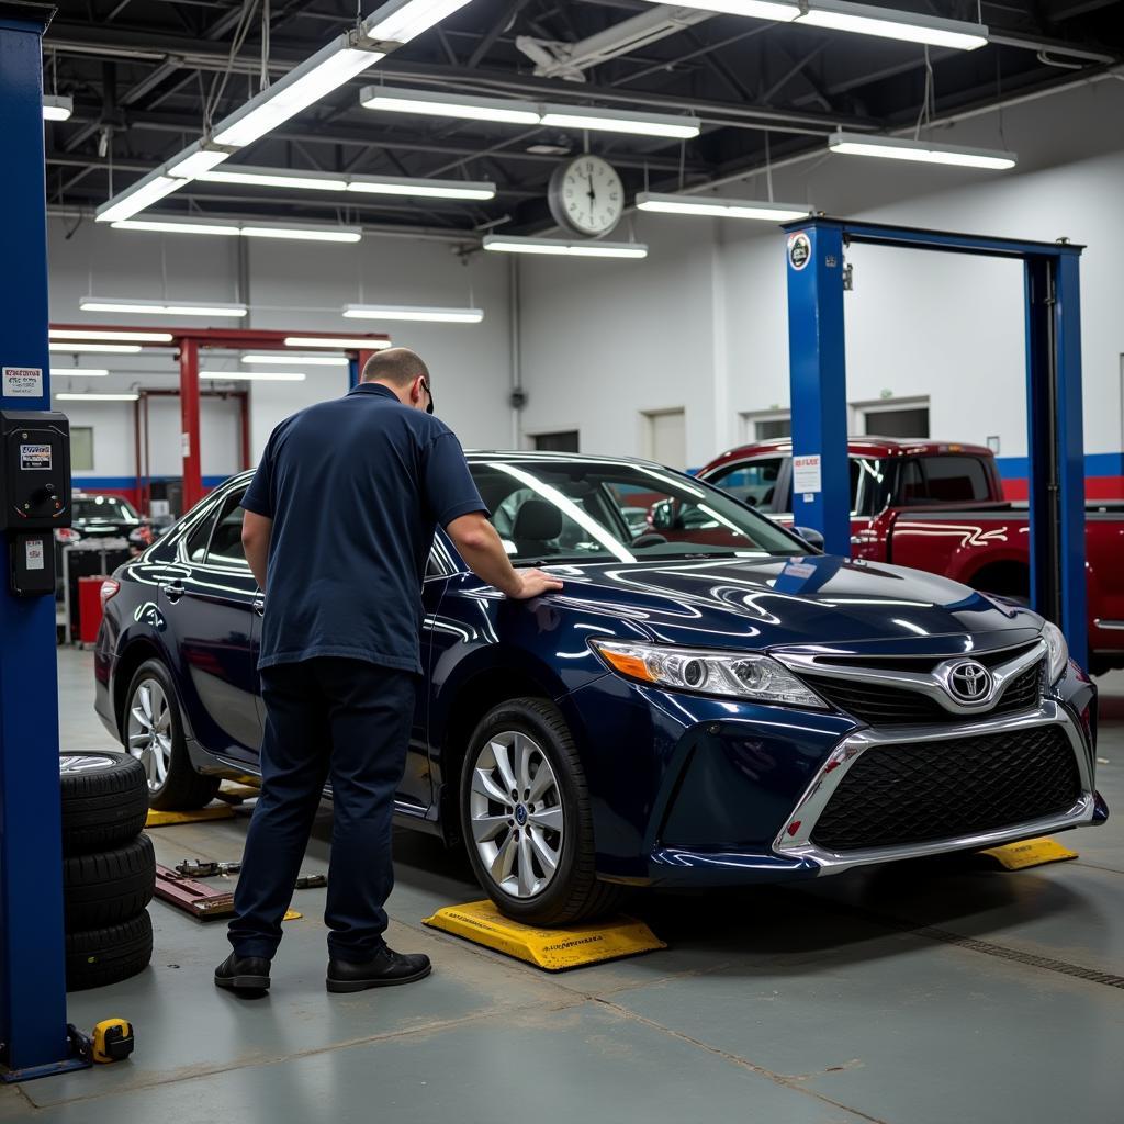
[[229, 940], [272, 959], [324, 783], [334, 824], [324, 919], [328, 951], [362, 963], [382, 948], [395, 885], [391, 818], [406, 767], [417, 677], [362, 660], [262, 670], [265, 736], [257, 799], [234, 894]]

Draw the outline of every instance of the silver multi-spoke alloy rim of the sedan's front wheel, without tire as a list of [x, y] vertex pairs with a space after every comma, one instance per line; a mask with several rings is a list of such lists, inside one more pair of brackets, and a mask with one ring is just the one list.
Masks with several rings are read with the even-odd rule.
[[505, 894], [532, 898], [550, 886], [562, 860], [562, 794], [533, 737], [504, 731], [481, 746], [469, 826], [481, 863]]

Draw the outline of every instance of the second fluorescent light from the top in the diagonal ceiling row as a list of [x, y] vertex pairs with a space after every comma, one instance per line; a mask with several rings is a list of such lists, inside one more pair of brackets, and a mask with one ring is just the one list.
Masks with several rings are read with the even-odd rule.
[[215, 126], [215, 143], [232, 148], [253, 144], [386, 57], [384, 51], [370, 51], [357, 43], [355, 33], [348, 31], [321, 47], [219, 121]]

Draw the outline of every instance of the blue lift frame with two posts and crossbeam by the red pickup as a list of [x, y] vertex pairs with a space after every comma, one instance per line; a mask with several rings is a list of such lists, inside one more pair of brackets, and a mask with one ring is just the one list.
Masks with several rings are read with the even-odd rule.
[[[813, 217], [788, 233], [792, 514], [828, 552], [851, 553], [843, 254], [864, 242], [1023, 262], [1030, 453], [1031, 604], [1087, 663], [1085, 445], [1081, 417], [1081, 246]], [[819, 457], [798, 488], [797, 457]]]

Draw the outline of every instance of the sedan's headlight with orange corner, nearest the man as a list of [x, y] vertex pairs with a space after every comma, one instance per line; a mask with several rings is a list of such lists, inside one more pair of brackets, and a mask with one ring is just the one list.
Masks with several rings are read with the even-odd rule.
[[787, 668], [768, 655], [591, 640], [590, 646], [618, 674], [695, 695], [827, 709]]

